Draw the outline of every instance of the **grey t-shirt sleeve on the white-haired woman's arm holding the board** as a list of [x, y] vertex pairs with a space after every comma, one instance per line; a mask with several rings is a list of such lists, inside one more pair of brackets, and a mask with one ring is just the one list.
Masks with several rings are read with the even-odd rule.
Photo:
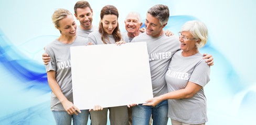
[[201, 60], [195, 66], [189, 81], [204, 87], [210, 81], [210, 66], [204, 60]]

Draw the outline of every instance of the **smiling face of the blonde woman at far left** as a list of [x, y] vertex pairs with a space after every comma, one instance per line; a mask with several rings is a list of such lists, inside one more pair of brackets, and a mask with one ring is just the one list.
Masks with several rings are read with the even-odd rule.
[[77, 24], [73, 16], [68, 15], [66, 18], [59, 21], [59, 27], [57, 27], [57, 29], [61, 31], [61, 35], [76, 36]]

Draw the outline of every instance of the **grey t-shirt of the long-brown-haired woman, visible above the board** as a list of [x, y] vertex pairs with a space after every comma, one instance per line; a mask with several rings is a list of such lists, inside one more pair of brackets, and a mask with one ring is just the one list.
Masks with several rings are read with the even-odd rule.
[[[123, 35], [122, 35], [123, 37]], [[108, 39], [105, 38], [105, 41], [107, 44], [114, 44], [115, 43], [115, 39], [113, 37], [113, 35], [108, 35]], [[104, 44], [103, 41], [101, 40], [101, 33], [99, 31], [93, 31], [88, 35], [88, 41], [92, 42], [93, 45], [98, 45], [98, 44]], [[122, 41], [122, 39], [121, 39]], [[123, 41], [128, 42], [128, 39], [123, 39]]]

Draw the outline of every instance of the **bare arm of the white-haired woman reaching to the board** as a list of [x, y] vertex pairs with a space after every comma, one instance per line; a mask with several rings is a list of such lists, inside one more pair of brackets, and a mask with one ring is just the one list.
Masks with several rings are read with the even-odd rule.
[[188, 82], [186, 88], [180, 89], [177, 91], [169, 92], [163, 95], [160, 95], [158, 97], [154, 97], [152, 99], [147, 100], [145, 106], [156, 106], [158, 103], [166, 100], [166, 99], [185, 99], [185, 98], [190, 98], [194, 96], [202, 86], [193, 83], [193, 82]]

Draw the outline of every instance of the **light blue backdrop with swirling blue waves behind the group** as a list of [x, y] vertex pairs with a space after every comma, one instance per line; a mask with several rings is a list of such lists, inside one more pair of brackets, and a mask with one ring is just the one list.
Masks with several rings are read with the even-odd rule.
[[[59, 36], [51, 22], [56, 8], [73, 13], [77, 1], [0, 2], [0, 124], [55, 124], [50, 112], [50, 89], [41, 54], [43, 47]], [[255, 29], [256, 2], [238, 1], [89, 1], [93, 24], [98, 26], [104, 5], [119, 9], [120, 28], [129, 11], [145, 19], [148, 8], [168, 5], [166, 29], [174, 33], [192, 19], [206, 23], [209, 41], [201, 53], [214, 56], [211, 81], [205, 86], [207, 124], [252, 124], [256, 118]], [[77, 22], [78, 23], [78, 22]], [[249, 39], [250, 38], [250, 39]], [[170, 123], [168, 123], [170, 124]]]

